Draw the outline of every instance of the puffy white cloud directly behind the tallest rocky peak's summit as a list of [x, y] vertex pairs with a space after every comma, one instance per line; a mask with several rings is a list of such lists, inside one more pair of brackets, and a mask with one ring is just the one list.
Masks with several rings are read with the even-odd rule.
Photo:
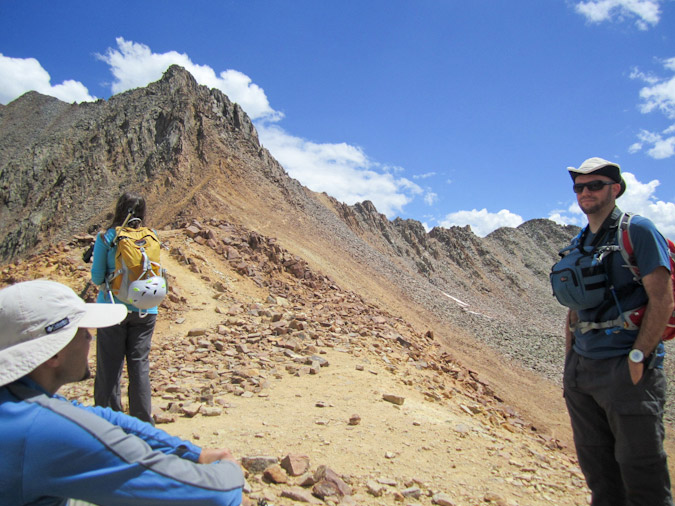
[[111, 67], [115, 81], [112, 92], [120, 93], [132, 88], [146, 86], [158, 80], [164, 71], [176, 64], [185, 68], [195, 80], [209, 88], [216, 88], [238, 103], [251, 119], [278, 121], [283, 114], [275, 111], [269, 104], [262, 88], [251, 78], [237, 70], [225, 70], [216, 75], [207, 65], [193, 63], [188, 55], [169, 51], [153, 53], [145, 44], [116, 39], [117, 49], [108, 48], [105, 54], [97, 55]]

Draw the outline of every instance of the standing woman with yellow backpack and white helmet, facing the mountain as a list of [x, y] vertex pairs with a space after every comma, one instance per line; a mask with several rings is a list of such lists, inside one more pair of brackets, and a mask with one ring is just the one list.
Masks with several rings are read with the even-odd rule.
[[124, 304], [128, 311], [121, 323], [97, 331], [94, 402], [122, 411], [120, 379], [126, 359], [129, 414], [153, 423], [149, 355], [157, 306], [167, 287], [159, 238], [143, 226], [145, 210], [142, 196], [124, 193], [110, 226], [94, 243], [91, 279], [99, 285], [97, 302]]

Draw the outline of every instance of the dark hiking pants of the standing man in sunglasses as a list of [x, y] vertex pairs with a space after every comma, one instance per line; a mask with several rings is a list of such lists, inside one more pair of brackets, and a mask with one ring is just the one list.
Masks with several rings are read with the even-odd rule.
[[627, 356], [594, 360], [572, 350], [563, 384], [592, 506], [672, 506], [664, 371], [645, 369], [633, 385]]

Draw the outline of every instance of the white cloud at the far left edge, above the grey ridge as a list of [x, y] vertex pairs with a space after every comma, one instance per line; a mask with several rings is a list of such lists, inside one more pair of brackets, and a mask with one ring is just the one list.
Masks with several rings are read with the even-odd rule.
[[49, 73], [35, 58], [10, 58], [0, 53], [0, 104], [8, 104], [28, 91], [37, 91], [64, 102], [96, 100], [80, 82], [67, 80], [52, 85]]

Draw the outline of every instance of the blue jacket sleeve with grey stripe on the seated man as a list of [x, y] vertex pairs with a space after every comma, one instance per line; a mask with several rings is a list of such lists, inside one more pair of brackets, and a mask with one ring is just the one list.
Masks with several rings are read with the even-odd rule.
[[236, 462], [183, 458], [181, 447], [193, 457], [196, 447], [121, 414], [47, 396], [30, 402], [43, 409], [25, 437], [23, 488], [29, 502], [64, 497], [111, 506], [241, 503], [244, 478]]

